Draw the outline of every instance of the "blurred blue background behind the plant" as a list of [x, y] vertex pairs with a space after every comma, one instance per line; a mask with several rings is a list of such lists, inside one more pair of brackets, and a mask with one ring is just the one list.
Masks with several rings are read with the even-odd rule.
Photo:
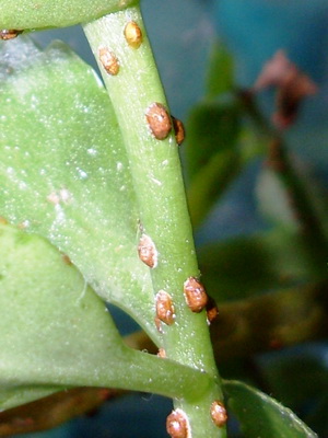
[[[144, 20], [172, 113], [186, 120], [202, 99], [209, 54], [219, 37], [235, 57], [236, 79], [254, 83], [262, 65], [280, 48], [307, 72], [319, 92], [307, 100], [297, 124], [290, 129], [290, 147], [318, 171], [328, 163], [328, 3], [327, 0], [142, 0]], [[80, 27], [38, 33], [47, 45], [65, 39], [95, 66]], [[272, 110], [265, 93], [260, 105]], [[253, 187], [257, 165], [236, 181], [226, 199], [214, 208], [197, 233], [198, 244], [262, 227]], [[120, 325], [127, 332], [125, 319]], [[124, 321], [124, 322], [122, 322]], [[91, 417], [77, 418], [55, 430], [24, 437], [167, 437], [165, 417], [171, 402], [154, 395], [128, 395], [108, 402]]]

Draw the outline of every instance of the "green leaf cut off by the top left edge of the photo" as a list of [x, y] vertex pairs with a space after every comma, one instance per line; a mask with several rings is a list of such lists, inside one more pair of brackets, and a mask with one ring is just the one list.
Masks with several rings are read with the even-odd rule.
[[1, 0], [0, 28], [71, 26], [136, 3], [138, 0]]

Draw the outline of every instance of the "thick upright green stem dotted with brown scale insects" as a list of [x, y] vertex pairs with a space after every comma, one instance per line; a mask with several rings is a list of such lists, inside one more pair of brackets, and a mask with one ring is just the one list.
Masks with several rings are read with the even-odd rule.
[[[131, 21], [142, 32], [139, 47], [129, 45], [125, 37], [125, 27]], [[192, 312], [184, 297], [184, 283], [189, 277], [199, 277], [199, 270], [177, 143], [172, 130], [165, 139], [155, 138], [145, 117], [152, 104], [160, 103], [166, 108], [167, 104], [140, 9], [134, 7], [112, 13], [84, 25], [84, 32], [99, 65], [125, 139], [140, 211], [140, 234], [151, 238], [157, 253], [157, 263], [151, 268], [154, 316], [155, 297], [160, 290], [169, 293], [174, 306], [174, 322], [169, 325], [161, 323], [163, 335], [160, 347], [165, 349], [169, 359], [213, 378], [213, 385], [197, 403], [175, 400], [175, 408], [186, 413], [192, 438], [223, 438], [225, 427], [216, 427], [210, 415], [212, 402], [222, 401], [223, 395], [207, 315], [204, 311]], [[99, 50], [110, 54], [110, 72], [102, 65]], [[137, 246], [138, 239], [136, 251]]]

